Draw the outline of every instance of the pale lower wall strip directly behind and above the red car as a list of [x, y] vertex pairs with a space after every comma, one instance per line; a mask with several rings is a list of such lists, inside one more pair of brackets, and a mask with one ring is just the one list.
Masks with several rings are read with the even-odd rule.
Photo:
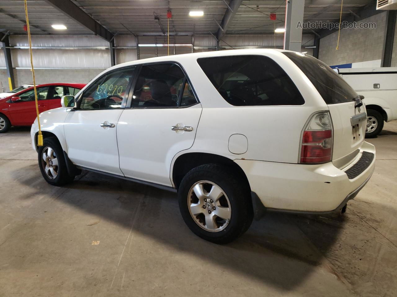
[[[76, 82], [87, 84], [103, 70], [105, 69], [35, 69], [35, 78], [36, 84], [48, 84], [52, 82]], [[14, 78], [15, 86], [33, 84], [32, 72], [30, 69], [14, 69]], [[6, 69], [0, 69], [0, 82], [2, 82], [5, 91], [9, 91]]]

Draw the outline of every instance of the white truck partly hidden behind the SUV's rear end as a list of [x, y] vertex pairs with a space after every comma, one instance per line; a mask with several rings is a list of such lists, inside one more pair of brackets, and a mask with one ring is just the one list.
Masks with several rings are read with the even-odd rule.
[[397, 67], [343, 68], [339, 75], [364, 96], [367, 109], [366, 138], [376, 137], [384, 121], [397, 120]]

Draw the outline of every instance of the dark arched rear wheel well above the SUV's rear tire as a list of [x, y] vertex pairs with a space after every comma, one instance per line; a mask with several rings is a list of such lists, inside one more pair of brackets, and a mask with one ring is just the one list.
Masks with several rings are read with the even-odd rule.
[[175, 185], [175, 188], [178, 189], [179, 185], [183, 177], [188, 173], [191, 169], [196, 168], [197, 166], [204, 164], [220, 164], [225, 166], [231, 170], [234, 174], [241, 177], [245, 185], [247, 186], [247, 190], [251, 192], [251, 188], [249, 186], [249, 181], [247, 176], [245, 175], [243, 169], [235, 162], [226, 158], [224, 156], [216, 155], [216, 154], [208, 154], [202, 152], [191, 152], [187, 154], [183, 154], [179, 156], [173, 165], [172, 169], [172, 180]]

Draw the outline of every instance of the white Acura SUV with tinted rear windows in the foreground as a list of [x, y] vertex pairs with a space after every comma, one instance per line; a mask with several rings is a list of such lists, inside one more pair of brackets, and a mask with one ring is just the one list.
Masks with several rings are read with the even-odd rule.
[[137, 60], [40, 114], [44, 179], [80, 169], [178, 192], [198, 236], [226, 243], [264, 209], [343, 212], [374, 171], [360, 96], [321, 61], [250, 49]]

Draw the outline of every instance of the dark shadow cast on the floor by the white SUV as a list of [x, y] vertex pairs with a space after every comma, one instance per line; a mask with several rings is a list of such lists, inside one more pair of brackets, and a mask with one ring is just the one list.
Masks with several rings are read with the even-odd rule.
[[[41, 177], [37, 165], [32, 172], [36, 172], [34, 176], [19, 182], [30, 185]], [[322, 228], [317, 232], [324, 224], [321, 218], [268, 213], [262, 220], [254, 221], [241, 238], [220, 246], [198, 238], [187, 228], [175, 193], [92, 172], [83, 172], [62, 190], [65, 192], [57, 200], [76, 209], [117, 223], [121, 228], [129, 230], [133, 226], [134, 231], [175, 251], [205, 258], [287, 291], [299, 286], [320, 265], [324, 251], [338, 239], [345, 220], [331, 218], [327, 231]], [[306, 231], [309, 229], [305, 233], [312, 237], [307, 237], [300, 225]], [[312, 244], [319, 240], [321, 252]], [[336, 273], [335, 276], [338, 277]]]

